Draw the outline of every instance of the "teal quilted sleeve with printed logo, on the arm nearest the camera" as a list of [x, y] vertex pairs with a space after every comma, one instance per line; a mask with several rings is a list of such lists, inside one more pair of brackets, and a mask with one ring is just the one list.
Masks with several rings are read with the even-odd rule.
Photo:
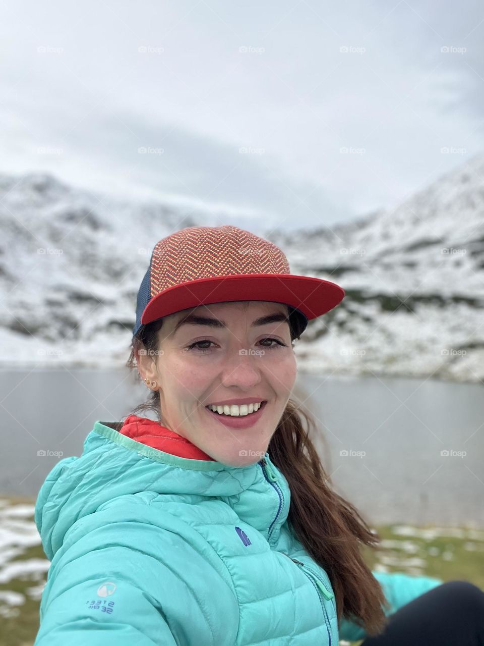
[[66, 532], [40, 619], [34, 646], [219, 646], [235, 643], [239, 610], [225, 565], [196, 530], [123, 495]]

